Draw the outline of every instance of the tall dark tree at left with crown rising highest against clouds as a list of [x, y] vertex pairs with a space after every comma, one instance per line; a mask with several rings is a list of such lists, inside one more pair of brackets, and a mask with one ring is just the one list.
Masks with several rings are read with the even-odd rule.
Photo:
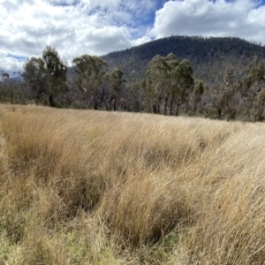
[[60, 59], [57, 50], [50, 46], [42, 51], [42, 60], [44, 62], [49, 105], [53, 107], [55, 97], [68, 90], [66, 85], [67, 66]]

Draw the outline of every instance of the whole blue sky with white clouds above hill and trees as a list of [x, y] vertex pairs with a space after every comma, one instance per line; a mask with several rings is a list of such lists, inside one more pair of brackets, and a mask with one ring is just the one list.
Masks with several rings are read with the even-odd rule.
[[21, 71], [47, 45], [71, 66], [171, 35], [265, 45], [265, 0], [0, 0], [0, 72]]

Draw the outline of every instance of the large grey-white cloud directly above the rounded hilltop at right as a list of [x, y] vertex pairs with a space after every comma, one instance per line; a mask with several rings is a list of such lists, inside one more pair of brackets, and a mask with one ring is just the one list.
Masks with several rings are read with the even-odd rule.
[[253, 0], [170, 1], [155, 12], [148, 35], [238, 36], [265, 43], [265, 7]]

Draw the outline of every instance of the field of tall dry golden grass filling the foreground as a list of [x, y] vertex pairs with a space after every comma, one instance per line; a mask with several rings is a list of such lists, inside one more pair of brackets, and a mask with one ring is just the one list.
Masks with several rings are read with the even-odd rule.
[[264, 124], [0, 105], [0, 264], [263, 264], [264, 173]]

